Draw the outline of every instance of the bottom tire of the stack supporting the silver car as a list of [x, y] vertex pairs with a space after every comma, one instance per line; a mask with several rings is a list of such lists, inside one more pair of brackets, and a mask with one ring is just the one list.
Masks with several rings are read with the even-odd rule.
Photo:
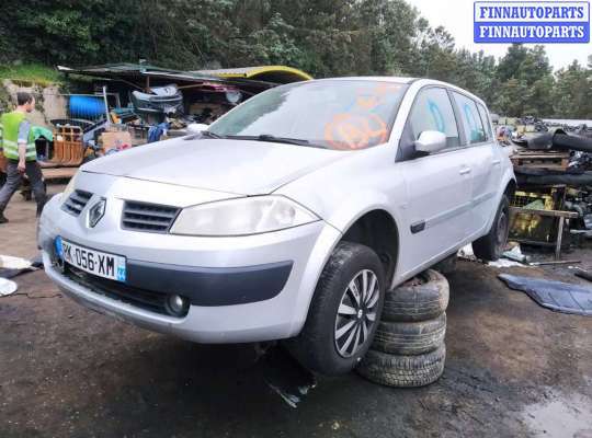
[[435, 382], [444, 372], [446, 346], [419, 356], [398, 356], [368, 350], [357, 372], [387, 387], [417, 388]]

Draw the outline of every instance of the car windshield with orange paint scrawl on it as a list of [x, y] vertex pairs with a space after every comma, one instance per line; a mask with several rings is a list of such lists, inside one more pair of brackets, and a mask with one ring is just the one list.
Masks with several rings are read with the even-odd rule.
[[258, 94], [209, 126], [212, 136], [365, 149], [387, 141], [407, 85], [371, 80], [297, 82]]

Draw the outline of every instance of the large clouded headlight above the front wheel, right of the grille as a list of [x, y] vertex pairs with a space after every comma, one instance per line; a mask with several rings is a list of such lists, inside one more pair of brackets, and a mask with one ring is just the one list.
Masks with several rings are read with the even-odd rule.
[[283, 196], [255, 196], [184, 208], [171, 228], [173, 234], [248, 235], [319, 220]]

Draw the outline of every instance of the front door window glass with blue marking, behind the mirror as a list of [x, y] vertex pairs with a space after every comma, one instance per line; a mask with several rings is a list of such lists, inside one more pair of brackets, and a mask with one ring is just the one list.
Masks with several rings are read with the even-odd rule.
[[448, 93], [444, 89], [430, 88], [420, 91], [409, 119], [414, 140], [424, 130], [439, 130], [446, 135], [446, 148], [456, 148], [460, 145], [454, 111]]

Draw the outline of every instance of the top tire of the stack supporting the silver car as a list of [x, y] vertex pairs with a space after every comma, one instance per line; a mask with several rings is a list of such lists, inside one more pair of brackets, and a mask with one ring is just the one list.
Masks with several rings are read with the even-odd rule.
[[383, 321], [428, 321], [440, 316], [448, 306], [446, 278], [428, 269], [385, 295]]

